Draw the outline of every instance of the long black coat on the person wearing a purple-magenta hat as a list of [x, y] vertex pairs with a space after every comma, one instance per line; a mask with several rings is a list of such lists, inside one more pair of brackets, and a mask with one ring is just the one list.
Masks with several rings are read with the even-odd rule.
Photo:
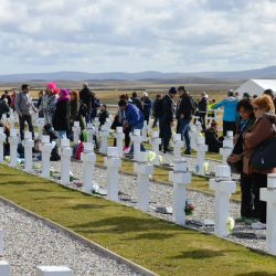
[[57, 100], [54, 119], [54, 129], [70, 131], [70, 100]]

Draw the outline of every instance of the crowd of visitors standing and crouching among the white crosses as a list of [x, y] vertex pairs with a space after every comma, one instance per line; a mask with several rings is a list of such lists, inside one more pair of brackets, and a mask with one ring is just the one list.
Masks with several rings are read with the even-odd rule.
[[[217, 108], [223, 108], [221, 137], [220, 121], [215, 120]], [[13, 91], [11, 95], [4, 92], [1, 96], [0, 119], [3, 114], [8, 117], [10, 109], [19, 115], [21, 140], [24, 139], [25, 124], [34, 136], [32, 113], [39, 113], [39, 116], [44, 118], [44, 130], [52, 135], [52, 139], [72, 138], [74, 121], [79, 121], [81, 129], [85, 131], [86, 125], [93, 123], [96, 117], [100, 126], [109, 117], [107, 106], [100, 105], [87, 83], [79, 92], [59, 89], [55, 83], [49, 83], [45, 91], [39, 94], [36, 105], [30, 96], [30, 85], [23, 84], [21, 92]], [[162, 152], [171, 151], [170, 140], [176, 130], [185, 141], [184, 153], [191, 155], [190, 125], [193, 117], [201, 123], [210, 151], [219, 152], [227, 131], [233, 131], [234, 149], [227, 162], [232, 172], [241, 174], [241, 220], [252, 223], [254, 229], [265, 229], [266, 203], [259, 200], [259, 189], [267, 187], [267, 173], [276, 172], [276, 164], [275, 168], [259, 170], [254, 168], [252, 158], [261, 145], [275, 137], [275, 95], [272, 89], [253, 97], [245, 93], [242, 98], [230, 91], [219, 103], [210, 99], [205, 92], [195, 100], [184, 86], [171, 87], [166, 95], [156, 95], [153, 100], [147, 92], [142, 93], [141, 97], [136, 92], [131, 96], [124, 94], [118, 99], [118, 112], [112, 128], [123, 127], [124, 150], [131, 155], [134, 149], [130, 148], [130, 134], [135, 129], [142, 129], [145, 121], [150, 124], [152, 119], [152, 128], [159, 127]], [[9, 136], [9, 126], [6, 127], [6, 134]], [[142, 145], [141, 150], [145, 150]]]

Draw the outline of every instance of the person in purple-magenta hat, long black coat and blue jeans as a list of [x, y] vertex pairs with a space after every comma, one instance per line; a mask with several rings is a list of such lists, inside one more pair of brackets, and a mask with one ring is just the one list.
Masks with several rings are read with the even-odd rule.
[[60, 92], [55, 105], [53, 126], [61, 139], [66, 138], [70, 131], [70, 91], [66, 88]]

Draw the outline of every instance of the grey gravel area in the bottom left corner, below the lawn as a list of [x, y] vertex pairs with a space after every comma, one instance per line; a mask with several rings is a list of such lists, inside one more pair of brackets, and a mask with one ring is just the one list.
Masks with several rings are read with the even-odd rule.
[[26, 213], [0, 202], [4, 256], [11, 276], [35, 275], [38, 265], [65, 265], [74, 275], [139, 275]]

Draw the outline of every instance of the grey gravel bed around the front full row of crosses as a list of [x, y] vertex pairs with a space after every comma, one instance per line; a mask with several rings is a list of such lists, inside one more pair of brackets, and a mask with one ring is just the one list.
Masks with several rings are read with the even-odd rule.
[[[60, 171], [60, 162], [55, 162], [54, 168]], [[78, 161], [72, 161], [72, 171], [74, 173], [74, 177], [82, 179], [83, 164]], [[106, 189], [106, 170], [95, 168], [94, 180], [99, 187]], [[125, 176], [120, 173], [119, 190], [120, 202], [128, 206], [136, 208], [137, 178], [134, 176]], [[206, 226], [204, 224], [204, 221], [213, 220], [214, 217], [214, 198], [212, 195], [195, 191], [189, 191], [188, 197], [195, 205], [193, 214], [191, 216], [188, 216], [188, 225], [204, 232], [213, 232], [213, 226]], [[170, 208], [171, 205], [172, 185], [164, 185], [157, 182], [150, 182], [149, 213], [153, 216], [171, 221], [171, 214], [161, 214], [156, 212], [156, 208]], [[240, 203], [231, 202], [231, 216], [235, 219], [240, 217]], [[265, 231], [252, 230], [250, 225], [245, 225], [244, 223], [236, 223], [236, 227], [230, 238], [252, 248], [265, 250]]]

